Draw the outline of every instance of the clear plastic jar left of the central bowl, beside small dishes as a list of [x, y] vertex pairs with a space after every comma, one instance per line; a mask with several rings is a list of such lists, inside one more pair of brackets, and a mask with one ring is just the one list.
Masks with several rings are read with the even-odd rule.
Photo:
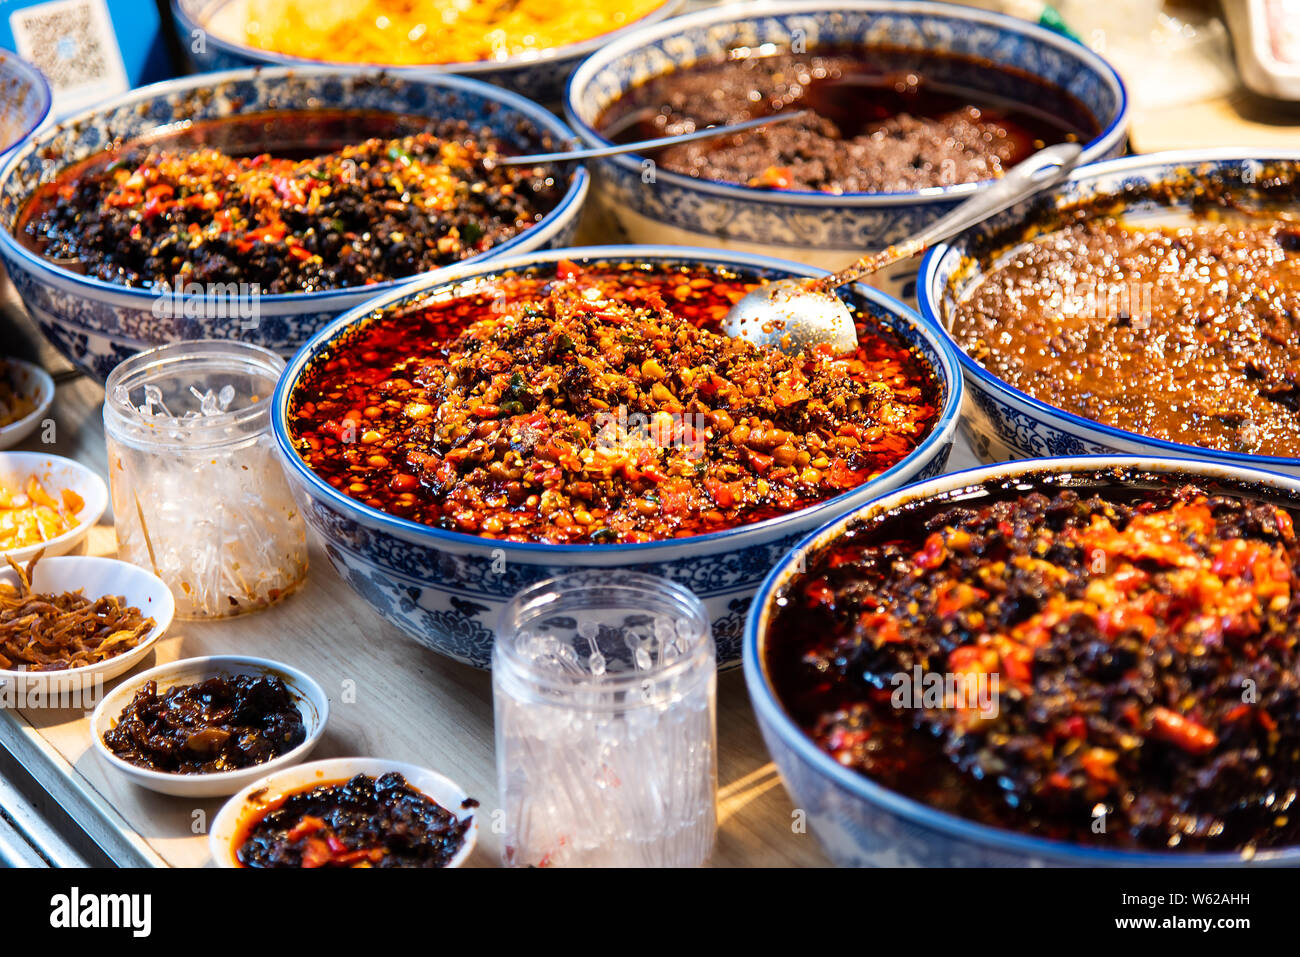
[[120, 558], [152, 570], [182, 618], [266, 607], [307, 577], [307, 528], [270, 434], [285, 360], [199, 339], [121, 363], [104, 386]]

